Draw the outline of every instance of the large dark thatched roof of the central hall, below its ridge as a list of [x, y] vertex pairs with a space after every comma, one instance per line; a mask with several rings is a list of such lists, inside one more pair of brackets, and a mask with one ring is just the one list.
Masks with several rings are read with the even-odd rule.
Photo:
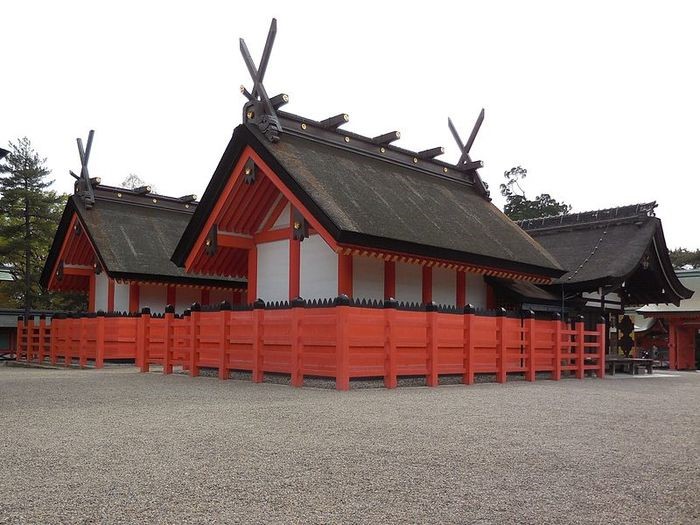
[[340, 244], [547, 277], [563, 273], [473, 183], [429, 173], [418, 162], [411, 167], [354, 150], [352, 140], [345, 146], [285, 129], [279, 142], [271, 143], [256, 129], [238, 126], [173, 260], [184, 263], [249, 145]]

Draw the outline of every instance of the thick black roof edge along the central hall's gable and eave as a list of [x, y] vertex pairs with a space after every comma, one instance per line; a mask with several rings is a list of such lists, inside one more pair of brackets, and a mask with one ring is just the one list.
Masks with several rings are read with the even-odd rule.
[[[247, 139], [247, 142], [244, 140]], [[465, 254], [457, 250], [435, 248], [433, 246], [415, 244], [406, 241], [388, 239], [357, 232], [341, 231], [338, 226], [328, 217], [313, 199], [299, 186], [299, 184], [286, 172], [277, 162], [277, 159], [265, 148], [255, 132], [246, 125], [240, 124], [234, 130], [233, 136], [214, 172], [209, 185], [202, 196], [202, 200], [192, 216], [187, 228], [180, 238], [180, 242], [175, 248], [171, 260], [178, 266], [184, 266], [189, 251], [192, 249], [196, 238], [199, 236], [208, 214], [216, 204], [216, 199], [223, 190], [231, 174], [234, 164], [243, 151], [244, 143], [250, 145], [255, 152], [270, 166], [282, 182], [294, 193], [294, 195], [306, 206], [309, 212], [321, 223], [321, 225], [339, 243], [358, 244], [360, 246], [390, 249], [393, 251], [414, 253], [429, 258], [441, 258], [450, 261], [464, 262], [465, 264], [495, 266], [498, 269], [511, 270], [523, 273], [541, 275], [545, 277], [557, 278], [566, 273], [566, 270], [541, 267], [515, 261], [507, 261], [495, 257], [487, 257], [476, 254]]]

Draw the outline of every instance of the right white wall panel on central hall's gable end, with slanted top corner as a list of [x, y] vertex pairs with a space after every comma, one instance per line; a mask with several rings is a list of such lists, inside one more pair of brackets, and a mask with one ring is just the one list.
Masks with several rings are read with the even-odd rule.
[[318, 234], [301, 242], [299, 295], [306, 300], [338, 295], [338, 256]]

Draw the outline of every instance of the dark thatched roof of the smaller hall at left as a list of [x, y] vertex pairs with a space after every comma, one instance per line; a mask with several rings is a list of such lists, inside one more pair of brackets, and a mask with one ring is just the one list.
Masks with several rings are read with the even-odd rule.
[[77, 213], [100, 263], [113, 279], [244, 287], [245, 282], [238, 280], [187, 274], [170, 260], [196, 206], [178, 198], [96, 186], [95, 204], [87, 209], [79, 196], [71, 195], [44, 265], [42, 286], [48, 286], [70, 221]]

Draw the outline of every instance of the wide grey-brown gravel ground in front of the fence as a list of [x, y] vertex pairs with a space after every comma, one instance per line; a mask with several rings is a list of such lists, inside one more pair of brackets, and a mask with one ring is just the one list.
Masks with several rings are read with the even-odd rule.
[[698, 523], [700, 373], [350, 392], [0, 366], [2, 523]]

